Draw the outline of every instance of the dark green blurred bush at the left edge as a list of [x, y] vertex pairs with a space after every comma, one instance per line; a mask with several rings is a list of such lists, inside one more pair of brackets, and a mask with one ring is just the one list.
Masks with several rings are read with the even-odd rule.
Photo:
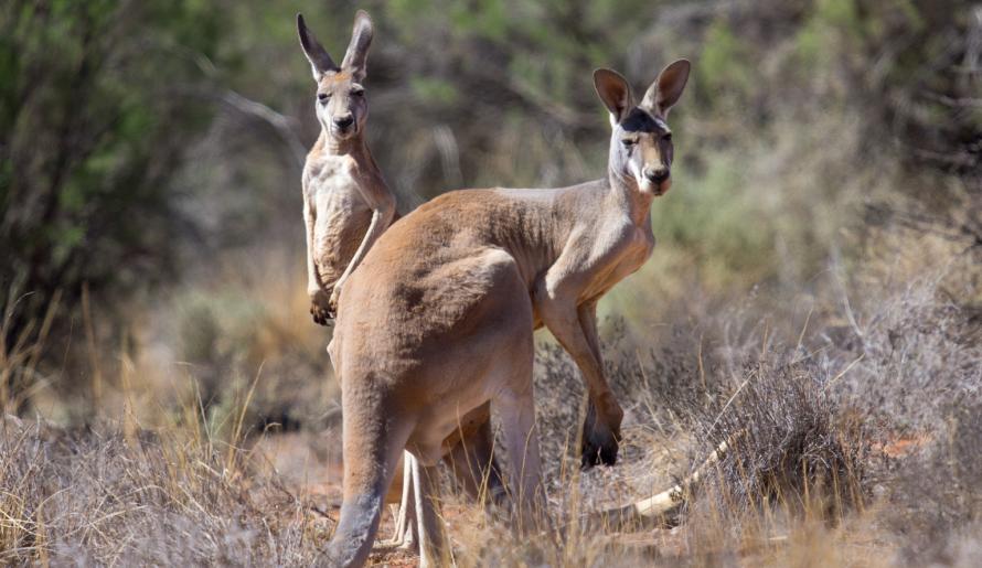
[[0, 280], [30, 292], [9, 349], [56, 290], [71, 314], [83, 283], [98, 296], [167, 275], [169, 182], [211, 116], [190, 54], [211, 54], [220, 28], [191, 0], [12, 1], [0, 18]]

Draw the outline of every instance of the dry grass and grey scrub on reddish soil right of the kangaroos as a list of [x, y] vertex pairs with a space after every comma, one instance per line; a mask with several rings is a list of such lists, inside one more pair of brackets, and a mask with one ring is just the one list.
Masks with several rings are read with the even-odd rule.
[[[919, 246], [938, 261], [871, 262], [848, 281], [830, 272], [804, 318], [768, 314], [751, 297], [651, 343], [608, 322], [608, 372], [627, 407], [612, 469], [577, 470], [583, 405], [569, 401], [583, 388], [562, 350], [543, 344], [540, 425], [567, 540], [508, 546], [500, 527], [476, 522], [455, 535], [463, 564], [978, 565], [978, 271], [943, 243]], [[670, 519], [677, 527], [578, 524], [666, 489], [723, 440], [729, 451]]]

